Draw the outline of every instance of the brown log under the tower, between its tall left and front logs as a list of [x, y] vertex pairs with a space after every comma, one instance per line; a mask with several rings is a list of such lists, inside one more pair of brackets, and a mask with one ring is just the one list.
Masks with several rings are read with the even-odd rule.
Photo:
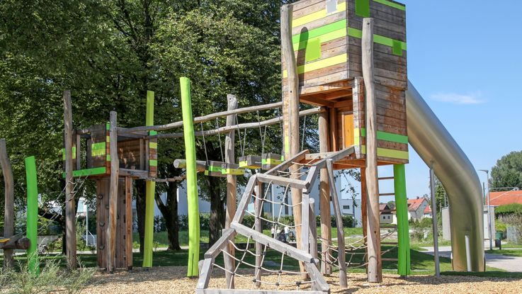
[[[319, 152], [329, 152], [328, 113], [319, 113]], [[321, 214], [321, 273], [331, 274], [331, 266], [325, 262], [329, 259], [331, 245], [331, 213], [330, 191], [327, 169], [319, 173], [319, 213]]]

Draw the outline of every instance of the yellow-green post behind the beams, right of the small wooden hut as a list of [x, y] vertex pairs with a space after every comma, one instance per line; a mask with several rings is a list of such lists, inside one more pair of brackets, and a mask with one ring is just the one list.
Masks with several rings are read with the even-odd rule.
[[[154, 92], [147, 91], [147, 117], [145, 125], [154, 125]], [[150, 133], [150, 132], [149, 132]], [[156, 183], [145, 182], [145, 237], [143, 248], [143, 267], [152, 267], [152, 247], [154, 243], [154, 193]]]

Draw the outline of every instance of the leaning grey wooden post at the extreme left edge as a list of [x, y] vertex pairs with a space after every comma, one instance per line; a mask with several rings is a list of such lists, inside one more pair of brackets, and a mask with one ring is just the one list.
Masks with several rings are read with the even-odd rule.
[[[5, 139], [0, 140], [0, 165], [4, 174], [5, 192], [4, 238], [8, 238], [14, 234], [14, 179]], [[4, 249], [4, 268], [13, 268], [13, 253], [13, 249]]]

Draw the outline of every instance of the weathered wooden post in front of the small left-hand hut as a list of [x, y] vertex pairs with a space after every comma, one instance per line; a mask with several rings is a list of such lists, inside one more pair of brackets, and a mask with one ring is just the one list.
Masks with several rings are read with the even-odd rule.
[[107, 230], [107, 271], [114, 272], [116, 248], [116, 213], [118, 211], [118, 176], [120, 163], [118, 159], [118, 125], [117, 114], [110, 111], [110, 188], [109, 188], [109, 224]]

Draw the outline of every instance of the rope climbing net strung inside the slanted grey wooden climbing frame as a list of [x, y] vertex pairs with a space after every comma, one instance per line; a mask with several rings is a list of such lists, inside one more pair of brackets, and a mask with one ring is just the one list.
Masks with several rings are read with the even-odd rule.
[[[265, 222], [265, 224], [268, 224], [271, 227], [271, 237], [276, 238], [279, 242], [288, 243], [289, 240], [285, 235], [283, 235], [283, 233], [289, 232], [290, 230], [294, 230], [295, 232], [301, 224], [295, 225], [283, 221], [283, 209], [300, 207], [302, 202], [293, 204], [288, 203], [290, 186], [278, 186], [280, 189], [283, 189], [283, 195], [280, 198], [276, 198], [274, 195], [276, 186], [278, 185], [270, 182], [266, 184], [264, 193], [259, 192], [259, 190], [256, 191], [258, 193], [251, 193], [249, 200], [250, 203], [253, 202], [255, 205], [254, 212], [252, 212], [250, 208], [247, 208], [244, 210], [244, 213], [245, 215], [251, 215], [254, 217], [254, 224], [249, 224], [248, 226], [251, 230], [259, 231], [260, 227], [263, 227], [262, 222]], [[275, 213], [275, 210], [272, 210], [271, 217], [263, 216], [261, 214], [261, 208], [265, 203], [272, 205], [272, 207], [277, 206], [278, 213]], [[243, 221], [243, 224], [246, 225], [246, 222]], [[232, 277], [241, 278], [246, 282], [246, 284], [251, 285], [251, 288], [271, 288], [274, 290], [291, 290], [295, 288], [295, 290], [304, 290], [307, 286], [316, 283], [316, 281], [312, 279], [305, 279], [304, 277], [306, 275], [298, 268], [295, 271], [288, 269], [289, 267], [295, 268], [297, 266], [289, 266], [288, 264], [285, 264], [285, 261], [288, 263], [289, 259], [288, 252], [286, 251], [279, 252], [276, 250], [270, 250], [268, 244], [263, 245], [256, 243], [251, 236], [246, 236], [246, 244], [244, 244], [244, 248], [238, 246], [238, 244], [235, 244], [232, 240], [228, 240], [228, 243], [228, 247], [233, 247], [236, 254], [230, 254], [227, 247], [222, 248], [221, 252], [224, 256], [233, 259], [236, 262], [236, 265], [232, 270], [216, 263], [214, 263], [213, 266], [215, 268], [220, 268], [222, 271], [225, 271], [225, 273], [229, 273]], [[252, 246], [253, 244], [255, 244], [255, 246]], [[251, 261], [251, 259], [255, 259], [255, 261]], [[242, 268], [242, 270], [240, 270], [240, 268]], [[254, 273], [246, 274], [248, 269], [244, 270], [244, 268], [251, 268], [254, 270]], [[232, 279], [229, 280], [227, 288], [230, 288], [230, 283], [232, 283]]]

